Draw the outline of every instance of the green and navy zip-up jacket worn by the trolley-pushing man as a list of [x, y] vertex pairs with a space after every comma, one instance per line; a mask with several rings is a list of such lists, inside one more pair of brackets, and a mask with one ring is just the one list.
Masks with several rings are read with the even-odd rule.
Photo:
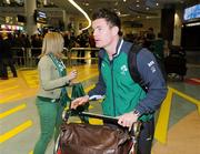
[[[99, 58], [101, 59], [101, 63], [99, 64], [99, 81], [96, 88], [89, 92], [89, 96], [106, 95], [102, 102], [104, 115], [118, 116], [137, 109], [140, 114], [142, 114], [140, 119], [148, 121], [152, 117], [153, 112], [160, 106], [166, 96], [167, 89], [164, 80], [158, 65], [153, 66], [156, 71], [152, 71], [152, 68], [149, 66], [150, 64], [148, 62], [152, 61], [153, 55], [144, 50], [147, 53], [143, 52], [142, 54], [150, 55], [150, 58], [147, 57], [147, 66], [144, 65], [146, 58], [143, 58], [144, 64], [142, 64], [142, 61], [140, 61], [140, 62], [138, 63], [137, 57], [137, 63], [143, 69], [138, 65], [139, 72], [142, 70], [140, 72], [141, 76], [146, 83], [150, 85], [146, 93], [142, 88], [132, 80], [129, 73], [128, 52], [132, 44], [126, 41], [121, 43], [121, 41], [122, 40], [119, 40], [117, 53], [113, 55], [112, 61], [109, 60], [108, 53], [103, 49], [100, 50]], [[154, 59], [153, 62], [156, 62]], [[148, 71], [146, 71], [146, 69], [149, 70], [148, 78], [144, 76]]]

